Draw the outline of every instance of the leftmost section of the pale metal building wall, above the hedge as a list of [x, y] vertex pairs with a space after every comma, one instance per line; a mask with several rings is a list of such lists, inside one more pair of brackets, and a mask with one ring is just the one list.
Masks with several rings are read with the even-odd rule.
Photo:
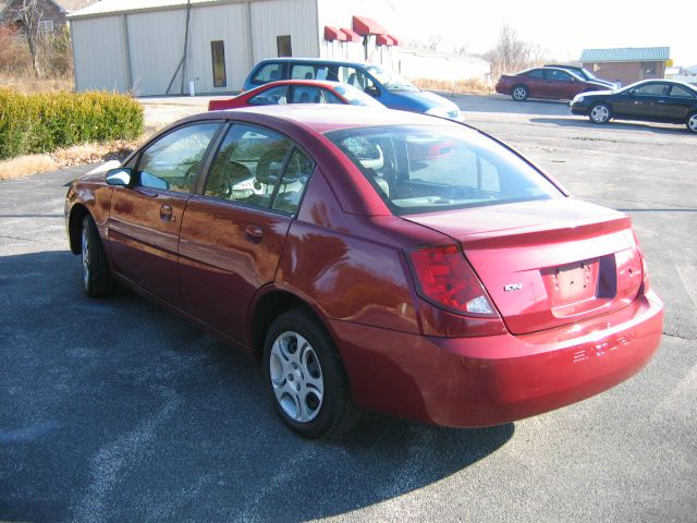
[[[77, 90], [131, 88], [125, 53], [124, 17], [76, 20], [71, 22]], [[96, 50], [99, 52], [96, 52]]]

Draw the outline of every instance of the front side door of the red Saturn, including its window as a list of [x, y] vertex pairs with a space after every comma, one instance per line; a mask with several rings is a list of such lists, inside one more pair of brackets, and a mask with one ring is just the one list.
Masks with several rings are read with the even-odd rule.
[[182, 216], [220, 125], [194, 123], [159, 137], [138, 156], [133, 184], [114, 187], [111, 196], [107, 234], [113, 270], [175, 306]]

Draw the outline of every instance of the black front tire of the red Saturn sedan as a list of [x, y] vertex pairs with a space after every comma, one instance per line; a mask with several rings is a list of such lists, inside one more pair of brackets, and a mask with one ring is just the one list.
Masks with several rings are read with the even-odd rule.
[[93, 297], [110, 296], [114, 293], [117, 284], [109, 269], [99, 231], [89, 215], [83, 218], [81, 241], [85, 293]]

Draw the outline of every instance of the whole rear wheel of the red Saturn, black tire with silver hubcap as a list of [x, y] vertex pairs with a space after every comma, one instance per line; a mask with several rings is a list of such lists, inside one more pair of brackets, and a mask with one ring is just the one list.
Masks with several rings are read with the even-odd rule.
[[273, 320], [264, 343], [264, 370], [277, 413], [299, 436], [339, 436], [358, 421], [337, 346], [308, 311], [296, 308]]

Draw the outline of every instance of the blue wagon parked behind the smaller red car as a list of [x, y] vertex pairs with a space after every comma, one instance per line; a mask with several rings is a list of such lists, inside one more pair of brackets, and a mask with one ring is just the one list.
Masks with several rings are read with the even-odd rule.
[[244, 90], [278, 80], [329, 80], [351, 84], [390, 109], [462, 121], [460, 108], [442, 96], [421, 90], [380, 65], [317, 58], [261, 60], [244, 82]]

